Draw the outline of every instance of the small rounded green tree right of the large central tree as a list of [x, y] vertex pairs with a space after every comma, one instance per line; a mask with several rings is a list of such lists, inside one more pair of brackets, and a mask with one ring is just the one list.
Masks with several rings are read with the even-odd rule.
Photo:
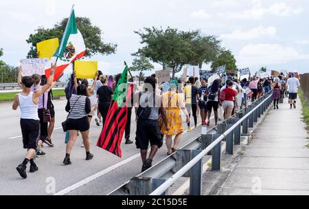
[[225, 65], [227, 70], [237, 69], [236, 59], [234, 58], [233, 54], [231, 54], [230, 50], [222, 51], [211, 63], [211, 69], [213, 72], [215, 72], [217, 67], [222, 65]]

